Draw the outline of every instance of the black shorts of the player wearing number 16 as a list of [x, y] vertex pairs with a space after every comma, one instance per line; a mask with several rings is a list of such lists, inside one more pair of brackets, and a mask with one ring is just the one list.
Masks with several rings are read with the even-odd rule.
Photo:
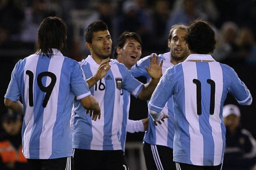
[[74, 149], [76, 170], [128, 170], [123, 150]]

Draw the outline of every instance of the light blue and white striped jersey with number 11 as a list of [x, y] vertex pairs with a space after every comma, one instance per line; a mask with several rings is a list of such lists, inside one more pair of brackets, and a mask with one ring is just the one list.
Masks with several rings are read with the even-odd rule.
[[252, 97], [236, 72], [214, 61], [211, 55], [189, 55], [185, 62], [167, 69], [148, 107], [160, 113], [173, 97], [174, 162], [215, 166], [223, 161], [226, 128], [222, 107], [228, 92], [239, 104]]

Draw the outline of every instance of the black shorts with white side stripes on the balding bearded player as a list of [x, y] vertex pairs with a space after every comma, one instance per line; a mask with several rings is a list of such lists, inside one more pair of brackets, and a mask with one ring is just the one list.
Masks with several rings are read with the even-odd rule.
[[150, 145], [144, 143], [143, 152], [148, 170], [175, 170], [176, 166], [173, 162], [173, 149], [161, 146]]

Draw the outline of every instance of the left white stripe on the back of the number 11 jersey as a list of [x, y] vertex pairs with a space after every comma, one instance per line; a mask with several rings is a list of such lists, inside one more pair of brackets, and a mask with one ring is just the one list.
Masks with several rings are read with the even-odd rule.
[[191, 79], [197, 79], [196, 62], [193, 64], [188, 64], [188, 62], [182, 63], [182, 69], [185, 84], [185, 113], [186, 119], [189, 122], [190, 160], [192, 164], [197, 165], [202, 162], [200, 156], [204, 155], [204, 142], [203, 135], [200, 133], [199, 118], [198, 115], [195, 114], [197, 113], [197, 103], [196, 100], [194, 100], [196, 96], [196, 84], [190, 81]]

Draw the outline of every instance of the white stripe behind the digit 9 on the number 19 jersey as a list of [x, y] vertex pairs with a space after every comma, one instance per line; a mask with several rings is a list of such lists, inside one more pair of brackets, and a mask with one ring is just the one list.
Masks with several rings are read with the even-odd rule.
[[[48, 71], [55, 74], [57, 78], [60, 78], [63, 61], [64, 61], [63, 56], [55, 55], [51, 57]], [[52, 81], [51, 78], [47, 77], [45, 87], [49, 86], [51, 81]], [[56, 100], [56, 96], [59, 96], [59, 86], [60, 86], [60, 79], [57, 79], [55, 86], [52, 90], [51, 97], [47, 103], [47, 107], [44, 109], [43, 129], [49, 129], [49, 131], [42, 130], [42, 133], [40, 136], [40, 150], [42, 150], [42, 148], [47, 148], [47, 150], [45, 149], [43, 153], [42, 152], [39, 153], [39, 156], [42, 158], [45, 158], [45, 157], [49, 158], [52, 155], [52, 143], [48, 143], [45, 141], [49, 140], [52, 142], [52, 131], [56, 121], [57, 108], [58, 108], [58, 100]]]

